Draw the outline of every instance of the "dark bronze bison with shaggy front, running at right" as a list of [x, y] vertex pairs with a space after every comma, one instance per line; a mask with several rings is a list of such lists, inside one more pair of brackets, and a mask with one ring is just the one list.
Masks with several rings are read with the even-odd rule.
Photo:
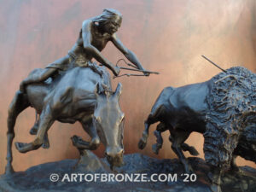
[[208, 177], [212, 190], [221, 191], [224, 170], [239, 171], [236, 156], [256, 162], [256, 75], [245, 67], [231, 67], [212, 79], [161, 91], [144, 123], [138, 148], [147, 144], [149, 126], [157, 125], [153, 145], [155, 154], [162, 147], [161, 132], [170, 131], [172, 150], [181, 160], [185, 172], [193, 172], [183, 151], [198, 154], [184, 143], [195, 131], [205, 138], [204, 153], [211, 167]]

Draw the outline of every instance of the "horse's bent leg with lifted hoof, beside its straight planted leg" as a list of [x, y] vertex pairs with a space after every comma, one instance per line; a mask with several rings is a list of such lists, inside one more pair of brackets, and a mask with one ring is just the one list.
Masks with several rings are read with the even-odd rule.
[[32, 143], [15, 143], [16, 148], [20, 151], [20, 153], [26, 153], [28, 151], [40, 148], [44, 143], [44, 137], [46, 136], [49, 127], [53, 123], [54, 119], [52, 117], [52, 112], [49, 105], [47, 105], [40, 115], [38, 134], [35, 140]]

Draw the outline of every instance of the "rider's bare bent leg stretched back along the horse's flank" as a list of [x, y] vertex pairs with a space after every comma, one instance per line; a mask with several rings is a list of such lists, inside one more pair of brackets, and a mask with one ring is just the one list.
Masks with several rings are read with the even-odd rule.
[[40, 83], [48, 79], [51, 75], [56, 73], [57, 68], [44, 68], [40, 73], [31, 73], [26, 79], [20, 83], [20, 91], [25, 92], [27, 84]]

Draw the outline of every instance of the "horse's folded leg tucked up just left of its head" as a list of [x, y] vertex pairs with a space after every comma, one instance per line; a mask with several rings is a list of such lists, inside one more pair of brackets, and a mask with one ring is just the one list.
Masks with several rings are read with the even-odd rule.
[[90, 142], [85, 142], [81, 137], [73, 136], [71, 137], [73, 145], [79, 149], [79, 151], [83, 149], [95, 150], [100, 145], [100, 138], [96, 133], [96, 129], [92, 124], [91, 119], [87, 122], [81, 122], [84, 131], [86, 131], [90, 137]]

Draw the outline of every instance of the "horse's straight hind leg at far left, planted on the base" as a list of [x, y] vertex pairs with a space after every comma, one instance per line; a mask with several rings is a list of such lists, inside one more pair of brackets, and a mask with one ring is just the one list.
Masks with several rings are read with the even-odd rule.
[[8, 111], [8, 119], [7, 119], [7, 125], [8, 125], [8, 131], [7, 131], [7, 165], [5, 166], [5, 174], [9, 174], [11, 172], [14, 172], [12, 161], [13, 161], [13, 155], [12, 155], [12, 143], [15, 137], [15, 122], [17, 119], [17, 116], [20, 112], [22, 112], [25, 108], [29, 107], [29, 102], [27, 101], [27, 98], [24, 94], [22, 94], [20, 91], [16, 92], [15, 98], [9, 105], [9, 111]]

